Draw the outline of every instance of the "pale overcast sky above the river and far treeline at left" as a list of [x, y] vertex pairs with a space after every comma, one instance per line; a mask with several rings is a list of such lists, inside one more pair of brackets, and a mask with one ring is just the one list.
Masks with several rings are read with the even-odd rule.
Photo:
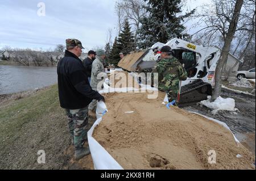
[[[209, 0], [188, 0], [189, 8], [203, 5]], [[38, 3], [46, 6], [45, 16], [39, 16]], [[0, 49], [48, 49], [65, 44], [73, 37], [82, 41], [83, 47], [104, 47], [109, 28], [117, 26], [114, 0], [0, 0]], [[85, 50], [85, 51], [86, 51]]]

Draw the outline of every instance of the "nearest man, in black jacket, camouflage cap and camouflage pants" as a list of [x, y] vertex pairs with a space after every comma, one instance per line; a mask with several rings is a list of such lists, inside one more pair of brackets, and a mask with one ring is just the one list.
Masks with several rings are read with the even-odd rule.
[[59, 99], [60, 107], [65, 109], [68, 116], [69, 132], [75, 145], [75, 159], [80, 159], [90, 154], [88, 146], [84, 148], [88, 105], [93, 99], [105, 99], [89, 85], [86, 70], [79, 59], [83, 49], [81, 41], [67, 39], [66, 45], [65, 56], [57, 65]]

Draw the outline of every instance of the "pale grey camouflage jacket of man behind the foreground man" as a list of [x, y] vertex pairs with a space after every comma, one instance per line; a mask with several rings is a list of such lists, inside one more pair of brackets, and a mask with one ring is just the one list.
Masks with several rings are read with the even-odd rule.
[[97, 75], [104, 72], [104, 60], [101, 60], [100, 57], [96, 56], [96, 59], [92, 63], [92, 74], [90, 79], [90, 86], [92, 86], [93, 90], [96, 90], [98, 83], [101, 81], [101, 79], [97, 79]]

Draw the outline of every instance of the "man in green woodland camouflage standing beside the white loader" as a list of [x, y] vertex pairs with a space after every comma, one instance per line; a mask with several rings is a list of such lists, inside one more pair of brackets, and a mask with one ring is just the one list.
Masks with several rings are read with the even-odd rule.
[[171, 47], [164, 46], [160, 52], [162, 52], [161, 60], [156, 64], [152, 73], [158, 73], [158, 89], [166, 92], [168, 100], [171, 102], [177, 99], [179, 82], [187, 79], [187, 71], [172, 55]]

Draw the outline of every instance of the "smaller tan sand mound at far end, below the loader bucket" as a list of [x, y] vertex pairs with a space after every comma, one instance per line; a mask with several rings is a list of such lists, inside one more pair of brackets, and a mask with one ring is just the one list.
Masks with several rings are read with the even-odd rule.
[[141, 87], [127, 71], [113, 71], [109, 75], [109, 80], [112, 88], [134, 87], [139, 89]]

